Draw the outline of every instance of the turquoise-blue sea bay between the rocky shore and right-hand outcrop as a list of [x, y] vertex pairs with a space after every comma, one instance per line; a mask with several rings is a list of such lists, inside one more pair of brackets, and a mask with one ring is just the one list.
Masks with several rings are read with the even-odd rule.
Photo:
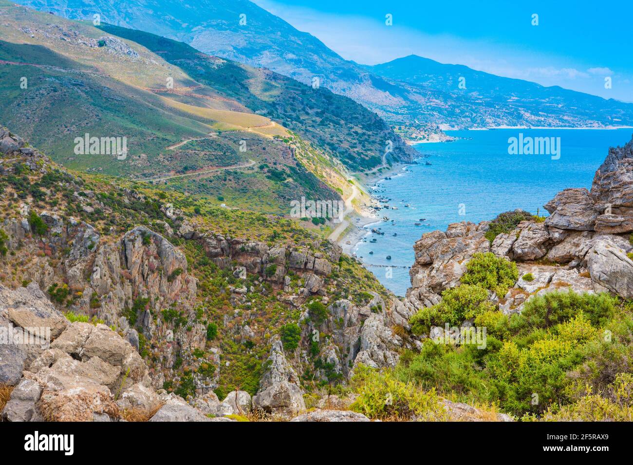
[[[518, 139], [520, 133], [523, 139], [560, 137], [560, 159], [546, 154], [508, 154], [508, 139]], [[547, 214], [543, 205], [561, 190], [590, 189], [609, 147], [624, 145], [632, 133], [630, 128], [447, 132], [459, 139], [418, 145], [419, 164], [370, 186], [377, 197], [391, 199], [387, 204], [398, 209], [380, 210], [380, 218], [387, 216], [389, 221], [368, 229], [380, 228], [384, 235], [368, 232], [366, 242], [360, 242], [354, 252], [385, 287], [404, 295], [410, 286], [413, 244], [422, 233], [446, 230], [456, 221], [492, 220], [517, 208]], [[372, 239], [376, 242], [369, 242]]]

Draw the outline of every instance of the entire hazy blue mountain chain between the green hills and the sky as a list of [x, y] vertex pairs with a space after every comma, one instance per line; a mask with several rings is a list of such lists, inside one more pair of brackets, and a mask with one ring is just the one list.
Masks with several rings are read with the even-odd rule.
[[[20, 3], [73, 19], [92, 20], [99, 13], [103, 22], [182, 40], [204, 53], [268, 68], [306, 84], [319, 78], [333, 92], [375, 111], [409, 140], [425, 140], [448, 128], [633, 125], [633, 104], [466, 66], [419, 57], [358, 65], [248, 0]], [[459, 77], [466, 78], [466, 89], [458, 87]]]

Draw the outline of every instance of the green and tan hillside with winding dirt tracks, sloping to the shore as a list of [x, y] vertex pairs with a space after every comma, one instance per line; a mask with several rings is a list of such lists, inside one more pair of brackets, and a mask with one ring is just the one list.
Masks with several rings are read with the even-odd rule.
[[[4, 0], [0, 18], [0, 118], [73, 169], [287, 214], [302, 195], [348, 196], [348, 172], [416, 156], [379, 116], [325, 87]], [[129, 158], [77, 154], [85, 134], [126, 137]]]

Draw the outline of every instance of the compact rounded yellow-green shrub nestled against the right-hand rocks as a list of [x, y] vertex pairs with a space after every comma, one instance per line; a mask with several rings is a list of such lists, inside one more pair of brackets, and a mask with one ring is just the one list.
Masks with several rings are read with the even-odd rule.
[[492, 252], [473, 254], [461, 277], [464, 284], [476, 284], [503, 297], [518, 279], [517, 264]]

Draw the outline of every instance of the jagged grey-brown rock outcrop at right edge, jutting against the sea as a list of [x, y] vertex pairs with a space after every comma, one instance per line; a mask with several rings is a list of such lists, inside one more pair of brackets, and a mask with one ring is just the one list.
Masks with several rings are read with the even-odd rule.
[[526, 299], [551, 290], [633, 297], [633, 140], [609, 150], [591, 191], [565, 189], [545, 208], [551, 215], [544, 221], [522, 211], [506, 213], [523, 221], [496, 237], [494, 221], [453, 223], [446, 232], [425, 233], [413, 247], [406, 300], [416, 307], [437, 304], [443, 290], [459, 285], [477, 252], [518, 263], [515, 287], [492, 296], [506, 312], [520, 311]]

